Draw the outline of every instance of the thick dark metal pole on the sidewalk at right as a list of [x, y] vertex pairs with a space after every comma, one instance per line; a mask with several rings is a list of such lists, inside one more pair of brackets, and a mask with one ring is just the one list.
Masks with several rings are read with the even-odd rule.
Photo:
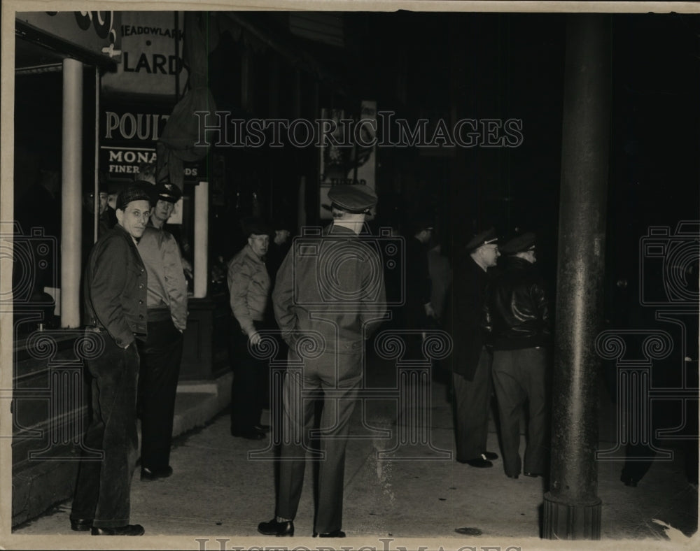
[[600, 539], [595, 339], [605, 267], [610, 18], [568, 21], [561, 148], [552, 466], [544, 537]]

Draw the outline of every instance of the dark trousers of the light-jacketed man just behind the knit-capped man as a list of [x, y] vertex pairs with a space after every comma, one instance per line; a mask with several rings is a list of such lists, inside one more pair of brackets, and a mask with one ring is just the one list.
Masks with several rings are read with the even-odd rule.
[[148, 322], [148, 338], [139, 346], [141, 467], [166, 468], [170, 463], [182, 341], [172, 320], [163, 320]]

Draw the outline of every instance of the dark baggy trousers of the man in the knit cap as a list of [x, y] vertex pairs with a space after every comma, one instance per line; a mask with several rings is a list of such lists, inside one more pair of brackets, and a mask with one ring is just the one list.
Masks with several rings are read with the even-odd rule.
[[87, 360], [92, 375], [92, 420], [85, 445], [102, 461], [80, 461], [71, 518], [94, 519], [95, 527], [129, 524], [130, 486], [138, 447], [136, 427], [139, 352], [124, 350], [106, 334], [105, 350]]

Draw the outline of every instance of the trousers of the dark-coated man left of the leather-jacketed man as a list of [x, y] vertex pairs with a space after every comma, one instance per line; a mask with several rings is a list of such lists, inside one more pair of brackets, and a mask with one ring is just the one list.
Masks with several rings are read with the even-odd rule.
[[491, 410], [491, 352], [482, 348], [473, 380], [452, 373], [457, 461], [477, 459], [486, 451]]

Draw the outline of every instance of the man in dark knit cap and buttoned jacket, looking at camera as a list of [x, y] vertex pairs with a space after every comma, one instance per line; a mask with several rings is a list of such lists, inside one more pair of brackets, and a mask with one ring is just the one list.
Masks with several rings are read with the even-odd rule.
[[71, 529], [95, 536], [141, 536], [129, 524], [130, 485], [137, 454], [137, 341], [146, 338], [147, 273], [137, 243], [151, 215], [151, 197], [130, 185], [117, 197], [117, 225], [95, 243], [85, 269], [86, 331], [104, 350], [87, 359], [92, 376], [92, 420], [85, 446], [102, 461], [80, 462]]

